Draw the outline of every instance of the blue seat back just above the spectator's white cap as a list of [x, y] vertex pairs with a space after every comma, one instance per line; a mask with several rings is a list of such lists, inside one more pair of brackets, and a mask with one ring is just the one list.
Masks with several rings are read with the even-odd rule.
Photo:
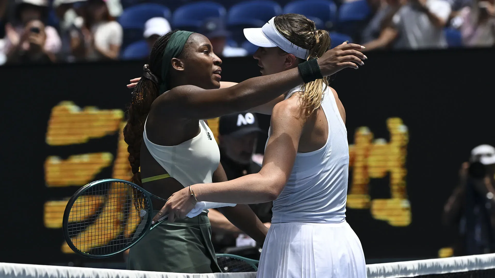
[[143, 28], [152, 17], [164, 17], [170, 20], [170, 9], [157, 3], [144, 3], [124, 9], [119, 17], [123, 29]]

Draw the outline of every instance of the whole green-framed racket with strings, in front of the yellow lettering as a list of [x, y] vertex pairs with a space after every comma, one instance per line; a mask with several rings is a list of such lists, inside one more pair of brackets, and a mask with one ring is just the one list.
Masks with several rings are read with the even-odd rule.
[[85, 257], [119, 254], [167, 219], [165, 216], [151, 225], [151, 198], [167, 201], [124, 180], [104, 179], [87, 184], [77, 190], [65, 207], [65, 241]]

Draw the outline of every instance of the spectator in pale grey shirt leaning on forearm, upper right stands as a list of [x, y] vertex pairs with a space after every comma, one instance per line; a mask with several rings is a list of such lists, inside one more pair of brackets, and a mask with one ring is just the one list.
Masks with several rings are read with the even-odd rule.
[[443, 29], [450, 11], [446, 0], [408, 0], [390, 20], [383, 22], [379, 37], [364, 44], [365, 50], [445, 48]]

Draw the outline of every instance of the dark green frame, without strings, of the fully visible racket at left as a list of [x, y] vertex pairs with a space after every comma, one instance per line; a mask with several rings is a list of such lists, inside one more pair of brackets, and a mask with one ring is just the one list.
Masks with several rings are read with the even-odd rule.
[[[141, 190], [147, 201], [148, 201], [148, 204], [149, 204], [149, 207], [148, 207], [148, 210], [147, 210], [147, 222], [146, 222], [146, 225], [143, 229], [143, 232], [138, 236], [138, 238], [132, 242], [129, 246], [127, 246], [125, 249], [122, 249], [122, 250], [119, 250], [119, 251], [116, 251], [116, 252], [112, 252], [112, 253], [109, 253], [109, 254], [105, 254], [105, 255], [93, 255], [93, 254], [89, 254], [89, 253], [86, 253], [86, 252], [83, 252], [79, 249], [77, 249], [76, 246], [74, 246], [74, 244], [72, 243], [72, 240], [70, 239], [70, 235], [69, 235], [69, 229], [68, 229], [68, 225], [69, 225], [69, 215], [70, 215], [70, 211], [72, 209], [72, 206], [74, 205], [74, 203], [76, 202], [77, 198], [81, 197], [81, 193], [86, 191], [88, 188], [90, 187], [93, 187], [93, 186], [96, 186], [96, 185], [100, 185], [102, 183], [123, 183], [123, 184], [126, 184], [126, 185], [130, 185], [130, 186], [134, 186], [136, 187], [137, 189]], [[69, 245], [70, 249], [72, 249], [72, 251], [74, 251], [76, 254], [80, 254], [84, 257], [88, 257], [88, 258], [108, 258], [108, 257], [112, 257], [112, 256], [115, 256], [119, 253], [122, 253], [124, 252], [125, 250], [131, 248], [134, 244], [136, 244], [138, 241], [141, 240], [141, 238], [143, 238], [151, 229], [153, 229], [154, 227], [156, 227], [158, 224], [160, 224], [161, 222], [163, 222], [164, 220], [167, 219], [167, 216], [161, 218], [159, 221], [157, 221], [156, 223], [153, 224], [153, 227], [150, 227], [151, 226], [151, 220], [153, 219], [153, 206], [152, 206], [152, 203], [151, 203], [151, 197], [154, 197], [158, 200], [161, 200], [161, 201], [167, 201], [166, 199], [163, 199], [161, 197], [158, 197], [150, 192], [148, 192], [147, 190], [145, 190], [143, 187], [139, 186], [139, 185], [136, 185], [134, 183], [131, 183], [129, 181], [126, 181], [126, 180], [120, 180], [120, 179], [102, 179], [102, 180], [98, 180], [98, 181], [94, 181], [94, 182], [91, 182], [87, 185], [84, 185], [83, 187], [79, 188], [75, 193], [74, 195], [72, 195], [72, 197], [70, 197], [69, 201], [67, 202], [67, 205], [65, 206], [65, 210], [64, 210], [64, 214], [63, 214], [63, 219], [62, 219], [62, 230], [63, 230], [63, 234], [64, 234], [64, 238], [65, 238], [65, 241], [67, 242], [67, 245]], [[106, 199], [106, 197], [105, 197]], [[106, 202], [105, 202], [106, 203]], [[134, 204], [133, 204], [134, 205]], [[139, 225], [138, 225], [139, 226]]]

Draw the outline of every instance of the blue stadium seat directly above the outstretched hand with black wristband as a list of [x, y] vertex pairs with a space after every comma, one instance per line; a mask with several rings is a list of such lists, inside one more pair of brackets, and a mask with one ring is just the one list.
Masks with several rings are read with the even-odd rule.
[[371, 15], [371, 8], [366, 0], [345, 2], [339, 7], [338, 31], [347, 34], [354, 41], [360, 41], [361, 31]]

